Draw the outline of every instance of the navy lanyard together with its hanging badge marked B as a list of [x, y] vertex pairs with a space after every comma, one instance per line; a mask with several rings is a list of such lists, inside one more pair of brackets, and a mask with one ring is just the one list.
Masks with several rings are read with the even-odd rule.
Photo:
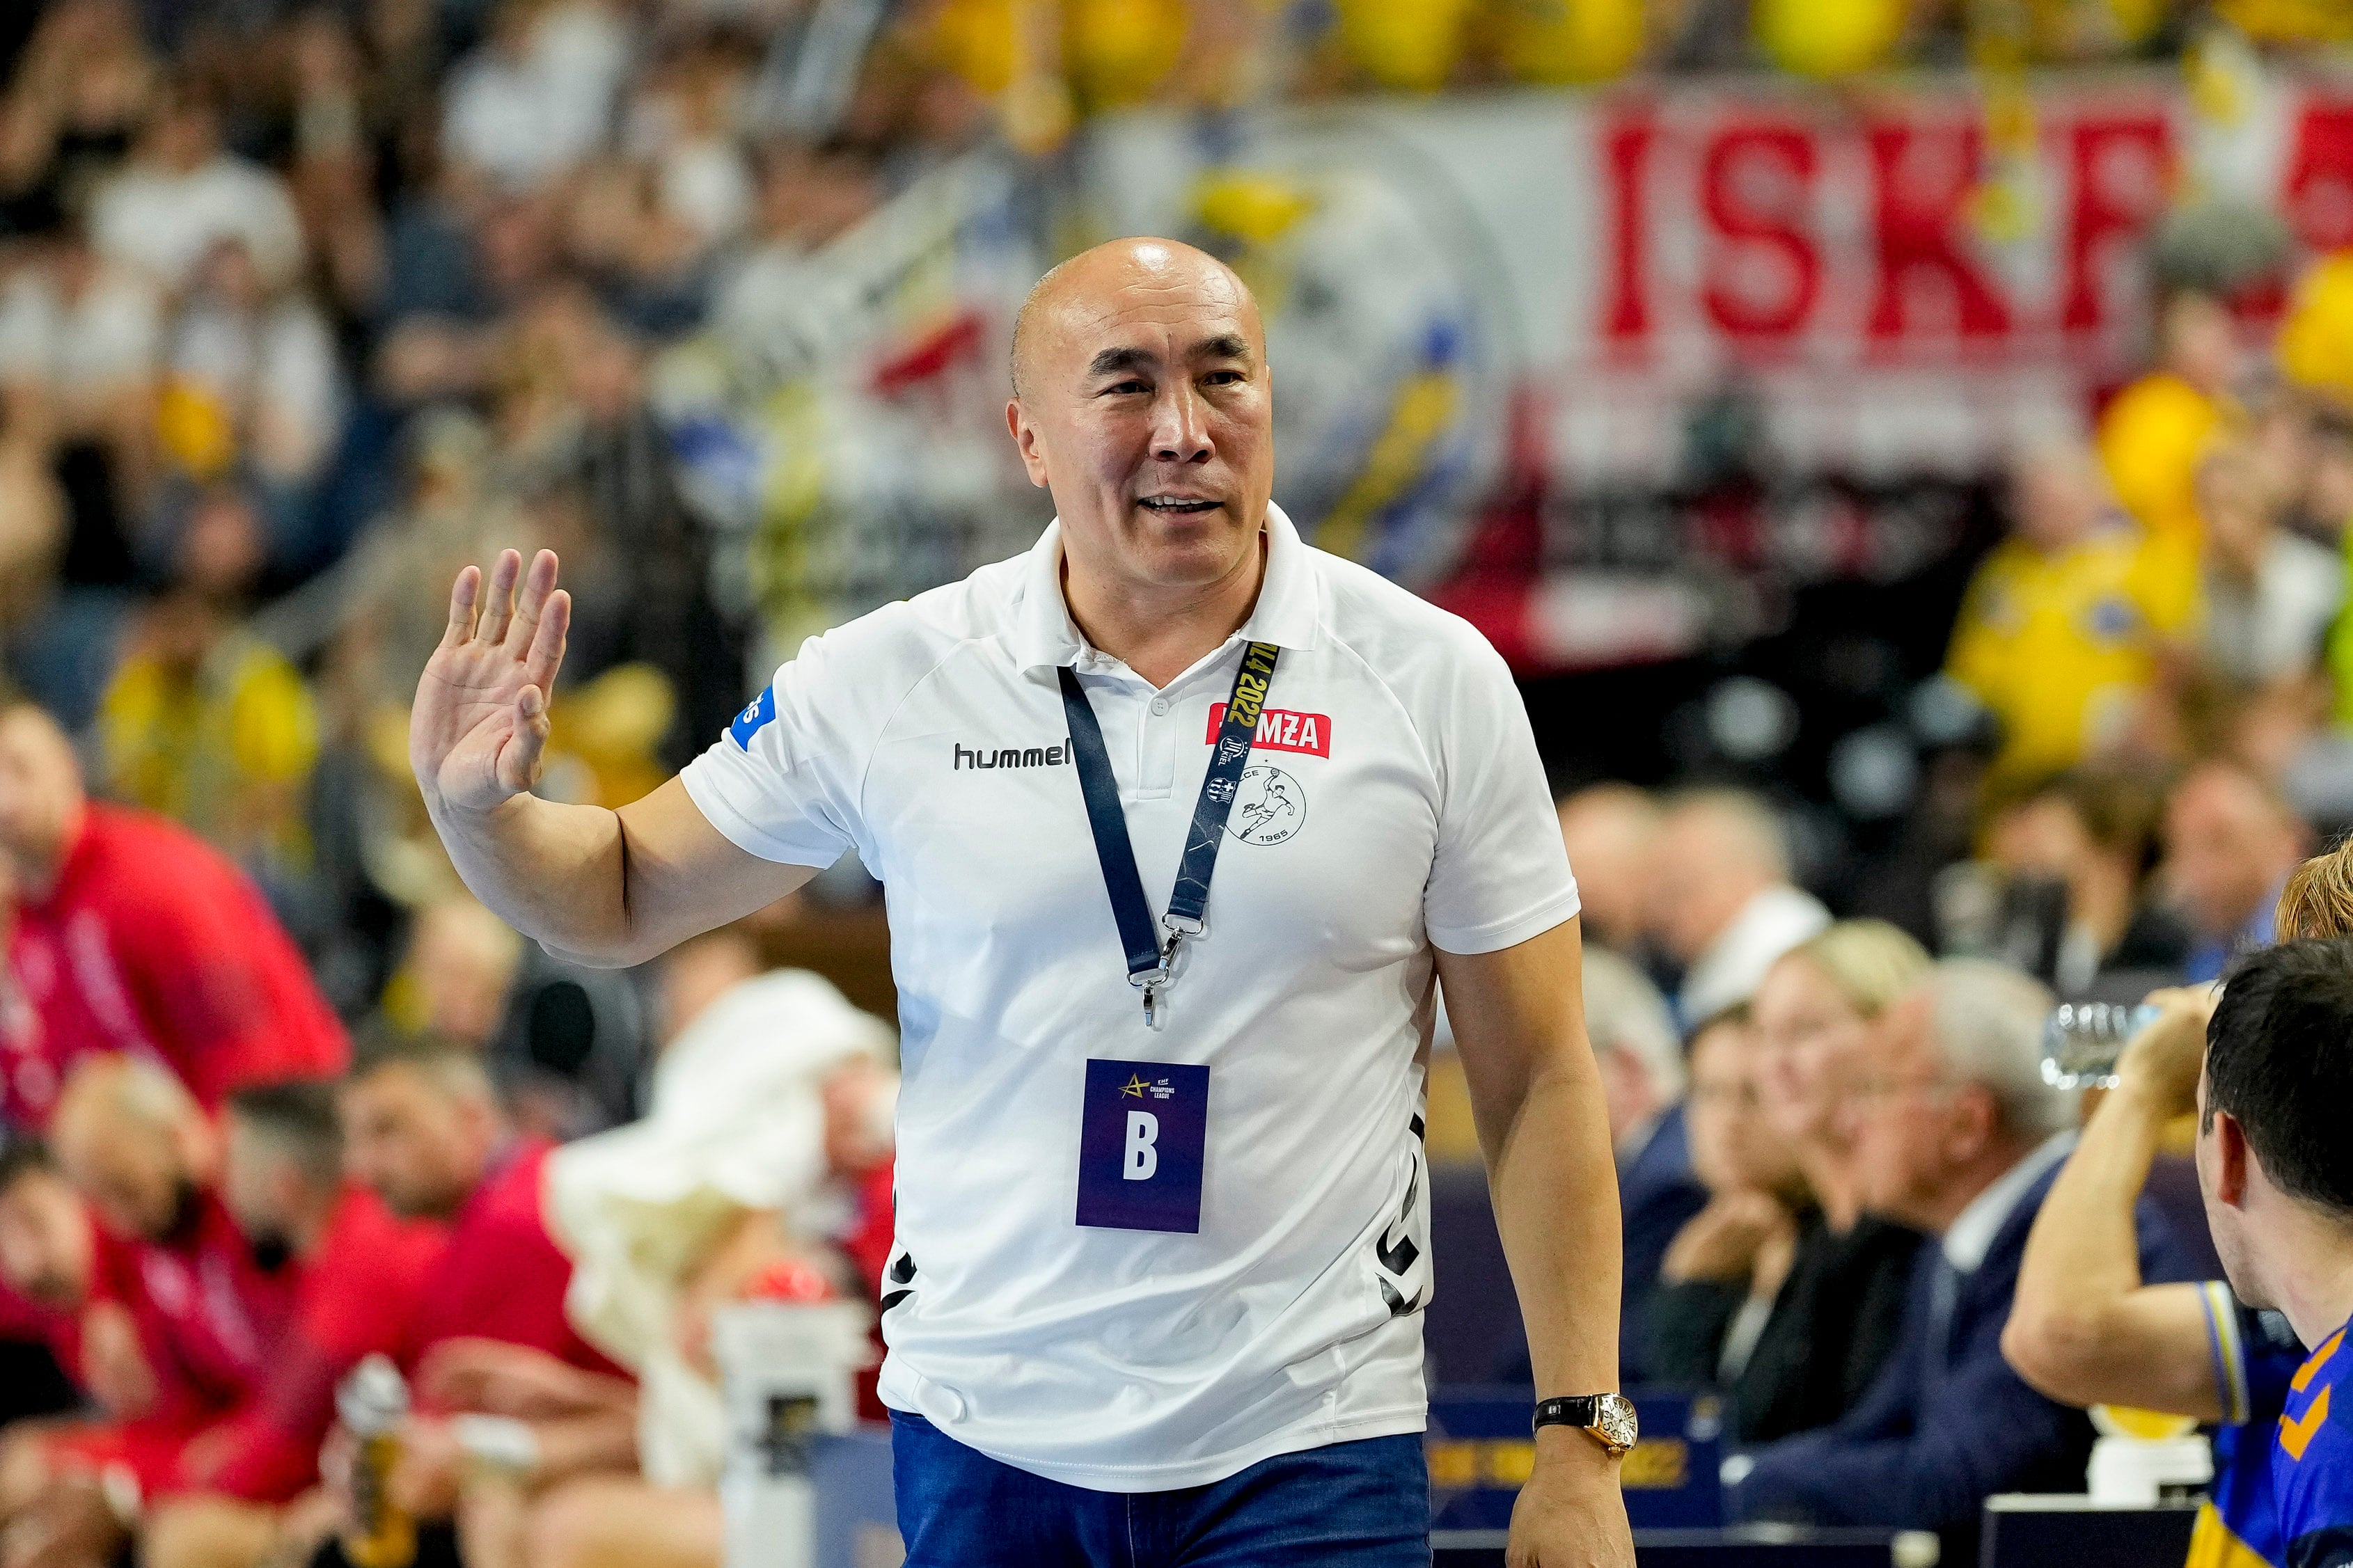
[[[1144, 877], [1136, 875], [1136, 849], [1127, 837], [1120, 785], [1111, 776], [1111, 752], [1104, 750], [1104, 726], [1094, 722], [1094, 708], [1078, 675], [1068, 665], [1056, 670], [1061, 705], [1071, 719], [1071, 759], [1078, 764], [1087, 827], [1094, 832], [1094, 856], [1104, 867], [1104, 891], [1120, 926], [1120, 945], [1127, 950], [1127, 983], [1144, 992], [1144, 1023], [1151, 1030], [1162, 1025], [1167, 1011], [1162, 992], [1174, 976], [1179, 947], [1188, 936], [1207, 931], [1217, 846], [1226, 837], [1226, 816], [1249, 764], [1249, 745], [1259, 733], [1259, 710], [1273, 686], [1278, 656], [1280, 649], [1271, 642], [1242, 649], [1242, 668], [1233, 672], [1233, 693], [1226, 698], [1209, 773], [1193, 802], [1184, 860], [1176, 863], [1176, 889], [1158, 931], [1151, 905], [1144, 903]], [[1209, 1070], [1092, 1058], [1085, 1091], [1078, 1222], [1198, 1234]]]

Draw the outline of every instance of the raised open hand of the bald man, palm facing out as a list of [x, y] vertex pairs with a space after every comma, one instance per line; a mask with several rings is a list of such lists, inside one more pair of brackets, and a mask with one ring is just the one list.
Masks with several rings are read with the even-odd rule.
[[565, 663], [572, 595], [555, 588], [555, 552], [504, 550], [489, 569], [466, 567], [449, 590], [449, 630], [426, 661], [409, 708], [409, 766], [426, 804], [489, 811], [539, 780], [548, 745], [548, 689]]

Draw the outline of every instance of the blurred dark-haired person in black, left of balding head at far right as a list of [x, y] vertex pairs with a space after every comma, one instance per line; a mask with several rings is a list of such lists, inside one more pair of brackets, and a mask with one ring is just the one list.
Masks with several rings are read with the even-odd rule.
[[2047, 778], [1995, 816], [1986, 835], [1995, 865], [2012, 877], [2066, 884], [2054, 976], [2061, 997], [2082, 994], [2104, 976], [2160, 985], [2188, 961], [2188, 926], [2146, 898], [2160, 820], [2160, 790], [2113, 766]]

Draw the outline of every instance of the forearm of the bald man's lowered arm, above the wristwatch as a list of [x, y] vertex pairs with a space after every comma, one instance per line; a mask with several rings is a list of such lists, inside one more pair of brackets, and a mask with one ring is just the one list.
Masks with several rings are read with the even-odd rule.
[[1607, 1392], [1619, 1378], [1617, 1164], [1591, 1060], [1584, 1051], [1586, 1072], [1569, 1056], [1534, 1077], [1487, 1150], [1539, 1399]]

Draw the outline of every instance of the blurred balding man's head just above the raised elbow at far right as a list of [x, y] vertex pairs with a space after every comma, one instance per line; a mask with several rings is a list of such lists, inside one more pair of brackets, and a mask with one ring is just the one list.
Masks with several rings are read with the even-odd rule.
[[2271, 940], [2306, 830], [2280, 792], [2235, 762], [2202, 762], [2165, 802], [2165, 879], [2191, 924], [2188, 980], [2217, 980]]

